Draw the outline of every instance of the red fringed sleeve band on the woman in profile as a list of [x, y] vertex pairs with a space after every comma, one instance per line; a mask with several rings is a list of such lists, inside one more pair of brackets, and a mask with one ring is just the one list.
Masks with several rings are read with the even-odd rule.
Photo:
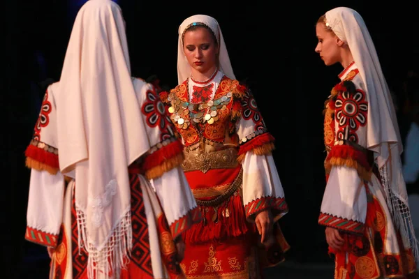
[[332, 147], [325, 160], [326, 174], [329, 174], [334, 166], [352, 167], [357, 170], [362, 179], [366, 181], [371, 179], [371, 167], [367, 155], [353, 146], [335, 145]]

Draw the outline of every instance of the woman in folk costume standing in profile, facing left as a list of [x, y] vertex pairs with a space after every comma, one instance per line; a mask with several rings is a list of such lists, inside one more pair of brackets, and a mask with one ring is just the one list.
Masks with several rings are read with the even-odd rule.
[[411, 278], [418, 246], [402, 144], [374, 43], [362, 17], [344, 7], [321, 16], [316, 35], [325, 65], [344, 67], [325, 102], [327, 185], [318, 218], [335, 278]]

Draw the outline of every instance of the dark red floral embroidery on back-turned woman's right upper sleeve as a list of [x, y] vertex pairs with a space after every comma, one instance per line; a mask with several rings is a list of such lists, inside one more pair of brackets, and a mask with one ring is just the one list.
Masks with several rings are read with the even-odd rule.
[[155, 91], [149, 90], [146, 94], [147, 100], [142, 105], [141, 111], [147, 116], [147, 125], [153, 128], [158, 126], [161, 130], [160, 140], [166, 140], [174, 135], [166, 107]]

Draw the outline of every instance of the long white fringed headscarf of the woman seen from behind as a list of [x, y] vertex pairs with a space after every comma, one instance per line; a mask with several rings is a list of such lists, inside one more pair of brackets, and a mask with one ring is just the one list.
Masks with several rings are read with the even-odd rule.
[[59, 165], [64, 174], [75, 169], [89, 278], [117, 272], [132, 245], [128, 165], [149, 149], [117, 3], [89, 0], [80, 8], [57, 91]]

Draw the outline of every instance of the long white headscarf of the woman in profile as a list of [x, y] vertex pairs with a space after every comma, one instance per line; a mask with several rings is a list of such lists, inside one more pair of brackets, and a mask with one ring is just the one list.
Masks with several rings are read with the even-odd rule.
[[374, 43], [364, 20], [355, 10], [346, 7], [334, 8], [329, 10], [325, 17], [332, 31], [348, 45], [362, 81], [367, 87], [367, 149], [374, 151], [387, 202], [396, 225], [401, 229], [405, 243], [410, 242], [413, 246], [417, 257], [418, 248], [409, 213], [406, 184], [402, 176], [400, 154], [403, 146], [399, 126], [390, 89], [381, 70]]

